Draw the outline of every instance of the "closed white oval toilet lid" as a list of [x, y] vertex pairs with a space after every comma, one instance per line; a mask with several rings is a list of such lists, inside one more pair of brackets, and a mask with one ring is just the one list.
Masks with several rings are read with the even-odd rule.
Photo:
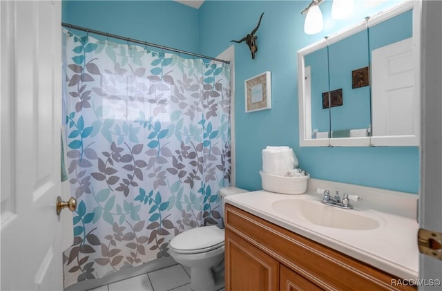
[[171, 241], [177, 252], [209, 252], [224, 245], [224, 230], [215, 225], [196, 227], [178, 234]]

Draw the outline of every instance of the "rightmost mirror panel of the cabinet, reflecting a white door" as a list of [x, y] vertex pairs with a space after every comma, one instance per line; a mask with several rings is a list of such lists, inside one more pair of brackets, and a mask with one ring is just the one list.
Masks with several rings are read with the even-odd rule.
[[[416, 9], [416, 8], [415, 8]], [[419, 54], [414, 42], [413, 9], [369, 27], [372, 62], [372, 136], [402, 137], [412, 143], [419, 135]], [[419, 35], [419, 31], [416, 32]], [[405, 139], [405, 140], [404, 140]], [[416, 142], [416, 145], [419, 141]], [[411, 144], [413, 145], [413, 144]]]

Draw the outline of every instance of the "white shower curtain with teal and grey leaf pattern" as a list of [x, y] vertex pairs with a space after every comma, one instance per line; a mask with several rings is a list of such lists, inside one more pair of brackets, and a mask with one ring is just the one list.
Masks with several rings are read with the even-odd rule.
[[65, 286], [169, 256], [221, 223], [230, 68], [66, 32], [66, 137], [77, 198]]

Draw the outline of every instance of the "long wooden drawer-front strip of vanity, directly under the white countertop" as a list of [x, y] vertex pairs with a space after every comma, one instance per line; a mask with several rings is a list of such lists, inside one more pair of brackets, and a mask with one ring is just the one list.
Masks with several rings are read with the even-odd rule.
[[330, 247], [225, 205], [226, 229], [244, 238], [314, 285], [326, 290], [416, 290], [392, 286], [396, 276], [357, 261]]

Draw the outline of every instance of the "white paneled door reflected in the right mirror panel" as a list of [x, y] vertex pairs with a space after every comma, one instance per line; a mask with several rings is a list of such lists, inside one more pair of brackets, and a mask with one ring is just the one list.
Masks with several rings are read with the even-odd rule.
[[412, 38], [372, 51], [372, 133], [414, 135]]

